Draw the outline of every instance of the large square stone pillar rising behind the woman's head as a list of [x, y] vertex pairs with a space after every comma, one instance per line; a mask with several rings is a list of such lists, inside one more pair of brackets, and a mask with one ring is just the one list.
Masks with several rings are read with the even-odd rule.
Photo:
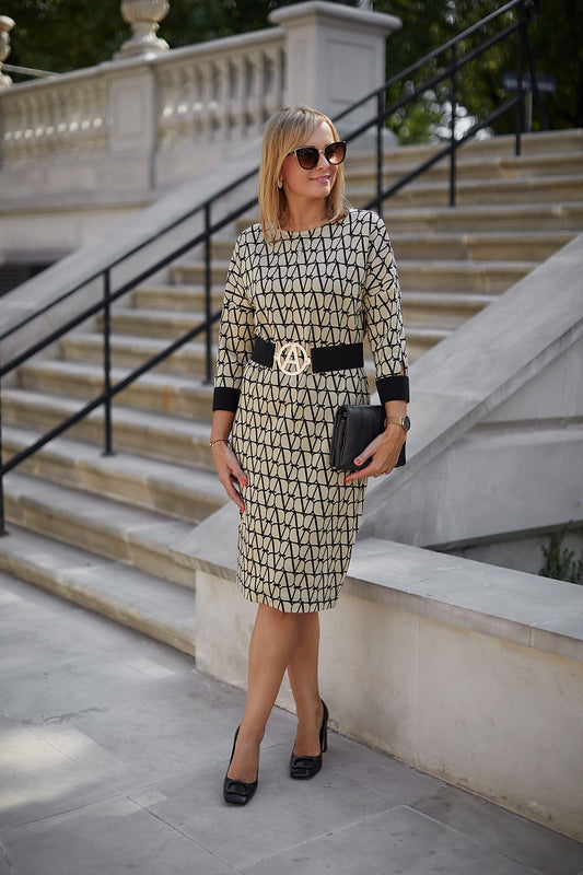
[[[334, 117], [385, 81], [385, 43], [399, 30], [394, 15], [308, 0], [277, 9], [269, 20], [285, 32], [285, 103]], [[374, 103], [342, 121], [347, 132], [371, 118]]]

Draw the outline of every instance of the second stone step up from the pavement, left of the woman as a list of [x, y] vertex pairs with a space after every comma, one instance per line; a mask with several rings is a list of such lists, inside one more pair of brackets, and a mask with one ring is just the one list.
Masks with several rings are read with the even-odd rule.
[[191, 523], [15, 471], [5, 478], [4, 498], [7, 520], [22, 528], [195, 586], [191, 570], [173, 552]]

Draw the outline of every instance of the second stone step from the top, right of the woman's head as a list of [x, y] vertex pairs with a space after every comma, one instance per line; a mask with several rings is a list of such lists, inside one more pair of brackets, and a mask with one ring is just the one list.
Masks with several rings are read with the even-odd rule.
[[[521, 179], [533, 176], [562, 176], [562, 175], [583, 175], [583, 150], [573, 152], [545, 152], [532, 155], [514, 154], [504, 155], [502, 153], [493, 155], [474, 156], [459, 160], [456, 167], [458, 182], [469, 182], [477, 179]], [[420, 162], [400, 161], [395, 163], [393, 155], [387, 156], [384, 166], [383, 180], [385, 186], [392, 185], [419, 166]], [[376, 160], [373, 155], [366, 159], [360, 158], [353, 161], [353, 155], [349, 154], [346, 164], [346, 179], [348, 187], [372, 188], [376, 187]], [[427, 182], [450, 180], [450, 160], [442, 159], [423, 174], [420, 179]]]

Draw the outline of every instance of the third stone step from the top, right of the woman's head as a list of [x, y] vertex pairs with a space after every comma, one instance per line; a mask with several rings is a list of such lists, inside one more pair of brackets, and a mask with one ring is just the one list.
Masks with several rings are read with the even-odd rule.
[[[366, 203], [371, 197], [370, 185], [347, 186], [348, 199], [354, 205]], [[583, 175], [532, 176], [524, 179], [476, 179], [459, 182], [456, 203], [515, 205], [581, 201], [583, 199]], [[390, 198], [394, 209], [410, 207], [446, 207], [450, 202], [448, 185], [443, 183], [411, 183]]]

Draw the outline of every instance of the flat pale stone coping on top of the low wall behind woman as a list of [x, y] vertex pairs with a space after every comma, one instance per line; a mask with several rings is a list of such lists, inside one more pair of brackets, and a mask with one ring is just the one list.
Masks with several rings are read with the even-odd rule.
[[[233, 582], [236, 527], [234, 506], [221, 508], [173, 548], [175, 561]], [[583, 586], [576, 584], [364, 538], [354, 546], [343, 592], [583, 662]]]

